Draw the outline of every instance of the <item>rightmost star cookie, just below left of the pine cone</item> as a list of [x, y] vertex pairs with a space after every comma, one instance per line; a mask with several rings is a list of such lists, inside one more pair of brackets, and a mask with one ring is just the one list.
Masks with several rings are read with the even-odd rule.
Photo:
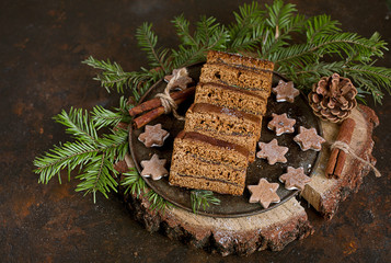
[[315, 128], [304, 128], [299, 127], [299, 134], [295, 136], [294, 140], [300, 146], [301, 150], [315, 150], [320, 151], [322, 149], [322, 144], [325, 142], [321, 136], [318, 135]]

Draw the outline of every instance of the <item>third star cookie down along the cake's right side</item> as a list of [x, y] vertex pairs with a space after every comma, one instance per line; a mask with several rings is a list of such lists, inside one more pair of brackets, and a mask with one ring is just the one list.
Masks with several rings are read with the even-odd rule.
[[271, 142], [258, 142], [261, 150], [256, 152], [257, 158], [265, 158], [268, 164], [275, 164], [276, 162], [287, 162], [285, 153], [288, 152], [289, 148], [284, 146], [278, 146], [278, 141], [273, 139]]

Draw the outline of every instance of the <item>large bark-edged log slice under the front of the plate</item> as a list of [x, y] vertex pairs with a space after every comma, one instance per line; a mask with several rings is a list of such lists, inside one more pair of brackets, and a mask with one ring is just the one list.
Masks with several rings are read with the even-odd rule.
[[[127, 167], [133, 165], [127, 156], [125, 161], [116, 163], [116, 169], [125, 172]], [[124, 193], [123, 190], [120, 192]], [[307, 213], [296, 198], [253, 216], [214, 218], [179, 207], [152, 210], [147, 193], [138, 198], [126, 194], [124, 201], [148, 231], [163, 232], [171, 239], [222, 255], [246, 255], [265, 249], [279, 251], [289, 242], [312, 233]]]

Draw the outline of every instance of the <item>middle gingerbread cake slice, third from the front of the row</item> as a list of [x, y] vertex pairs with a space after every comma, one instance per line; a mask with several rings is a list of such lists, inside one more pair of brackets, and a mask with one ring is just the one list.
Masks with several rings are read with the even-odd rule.
[[198, 83], [195, 103], [209, 103], [245, 113], [263, 116], [266, 113], [267, 100], [251, 91], [214, 82]]

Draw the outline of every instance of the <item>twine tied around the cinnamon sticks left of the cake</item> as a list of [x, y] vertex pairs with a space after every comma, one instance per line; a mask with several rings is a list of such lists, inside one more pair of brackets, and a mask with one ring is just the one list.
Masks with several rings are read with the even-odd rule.
[[185, 121], [185, 118], [181, 115], [177, 114], [176, 110], [177, 110], [177, 104], [175, 103], [175, 101], [171, 98], [170, 92], [174, 87], [174, 83], [176, 80], [179, 80], [182, 77], [187, 77], [188, 72], [186, 68], [181, 68], [177, 70], [177, 72], [171, 78], [171, 80], [169, 81], [169, 83], [166, 84], [164, 91], [162, 93], [158, 93], [156, 95], [156, 98], [159, 98], [162, 106], [164, 107], [164, 113], [169, 114], [172, 112], [172, 114], [174, 115], [174, 117], [179, 121]]

